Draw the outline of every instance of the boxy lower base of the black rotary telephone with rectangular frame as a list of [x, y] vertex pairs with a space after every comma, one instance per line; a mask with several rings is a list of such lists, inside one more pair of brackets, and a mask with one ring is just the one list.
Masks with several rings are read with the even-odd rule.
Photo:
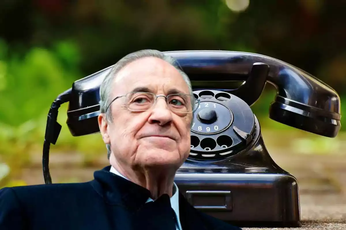
[[[196, 209], [241, 227], [298, 226], [297, 180], [289, 173], [176, 173]], [[240, 226], [240, 225], [238, 225]]]

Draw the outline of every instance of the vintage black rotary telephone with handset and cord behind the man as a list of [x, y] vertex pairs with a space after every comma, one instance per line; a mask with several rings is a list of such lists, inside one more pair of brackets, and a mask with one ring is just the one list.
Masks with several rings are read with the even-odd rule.
[[[300, 220], [297, 180], [270, 157], [250, 106], [265, 83], [277, 89], [269, 117], [277, 122], [336, 137], [340, 129], [338, 94], [307, 72], [283, 61], [234, 51], [170, 51], [192, 81], [200, 107], [191, 128], [190, 157], [175, 182], [197, 209], [240, 226], [296, 225]], [[62, 103], [69, 102], [67, 126], [73, 136], [99, 132], [99, 86], [111, 67], [75, 81], [48, 114], [43, 171], [49, 174], [49, 146], [61, 126]], [[232, 81], [245, 81], [230, 89]], [[244, 224], [245, 223], [245, 224]]]

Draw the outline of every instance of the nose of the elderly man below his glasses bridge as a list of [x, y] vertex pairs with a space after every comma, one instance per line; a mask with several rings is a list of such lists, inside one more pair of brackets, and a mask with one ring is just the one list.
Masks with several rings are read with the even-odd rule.
[[160, 126], [164, 126], [169, 124], [172, 119], [172, 111], [168, 107], [166, 99], [158, 97], [155, 104], [153, 104], [153, 109], [148, 119], [149, 123], [158, 123]]

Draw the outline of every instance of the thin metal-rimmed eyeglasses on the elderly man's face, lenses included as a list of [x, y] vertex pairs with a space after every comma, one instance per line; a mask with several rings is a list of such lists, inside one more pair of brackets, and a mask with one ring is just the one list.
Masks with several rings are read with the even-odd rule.
[[[158, 95], [156, 96], [154, 93], [150, 92], [129, 92], [125, 95], [118, 96], [114, 98], [108, 105], [107, 110], [113, 101], [118, 98], [125, 97], [124, 106], [134, 112], [142, 112], [151, 109], [158, 97], [163, 97], [166, 100], [168, 108], [176, 113], [176, 114], [185, 114], [194, 112], [198, 106], [200, 101], [195, 99], [194, 95], [184, 94], [184, 93], [175, 93], [169, 94], [167, 96]], [[191, 105], [192, 99], [194, 103]], [[106, 111], [107, 111], [106, 110]]]

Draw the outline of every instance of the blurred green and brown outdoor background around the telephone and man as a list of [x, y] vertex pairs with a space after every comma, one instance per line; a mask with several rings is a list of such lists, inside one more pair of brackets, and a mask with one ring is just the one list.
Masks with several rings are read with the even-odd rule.
[[[346, 109], [346, 2], [330, 0], [1, 0], [0, 188], [44, 183], [47, 113], [75, 80], [140, 49], [233, 50], [293, 64], [334, 88]], [[274, 161], [300, 192], [346, 194], [346, 124], [320, 137], [268, 118], [267, 84], [252, 106]], [[67, 104], [51, 146], [53, 183], [87, 181], [108, 164], [100, 134], [72, 137]]]

